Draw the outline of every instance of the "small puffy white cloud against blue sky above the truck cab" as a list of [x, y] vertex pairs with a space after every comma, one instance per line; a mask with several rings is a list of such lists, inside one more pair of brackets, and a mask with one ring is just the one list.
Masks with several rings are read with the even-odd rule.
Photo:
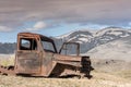
[[47, 24], [44, 22], [37, 22], [33, 27], [26, 28], [26, 30], [40, 30], [43, 28], [46, 28]]

